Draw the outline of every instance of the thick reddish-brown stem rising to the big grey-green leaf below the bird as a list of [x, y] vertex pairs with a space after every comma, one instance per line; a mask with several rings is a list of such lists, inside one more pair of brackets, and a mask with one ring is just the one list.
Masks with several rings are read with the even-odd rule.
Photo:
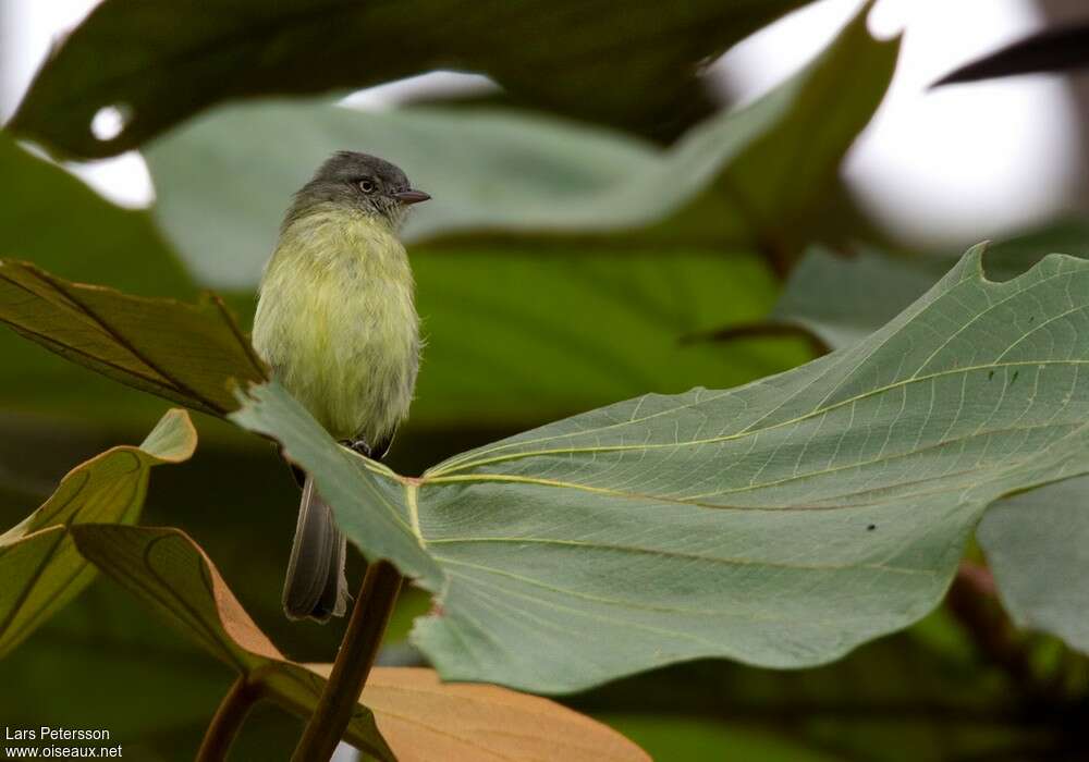
[[401, 581], [389, 562], [376, 561], [367, 567], [332, 673], [295, 747], [293, 762], [325, 762], [332, 757], [367, 683]]

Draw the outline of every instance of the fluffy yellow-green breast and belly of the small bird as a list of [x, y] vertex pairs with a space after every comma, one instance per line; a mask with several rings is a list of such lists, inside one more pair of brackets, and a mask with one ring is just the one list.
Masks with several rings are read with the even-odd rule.
[[254, 347], [337, 439], [376, 444], [408, 411], [419, 319], [404, 246], [333, 207], [286, 226], [261, 280]]

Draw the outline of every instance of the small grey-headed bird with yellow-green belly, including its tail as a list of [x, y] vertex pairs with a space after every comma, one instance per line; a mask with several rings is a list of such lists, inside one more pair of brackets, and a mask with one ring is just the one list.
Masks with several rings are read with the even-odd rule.
[[[334, 439], [381, 458], [408, 413], [419, 319], [399, 236], [430, 196], [366, 153], [340, 151], [295, 194], [261, 278], [254, 348]], [[283, 587], [289, 618], [327, 622], [347, 607], [347, 545], [311, 477]]]

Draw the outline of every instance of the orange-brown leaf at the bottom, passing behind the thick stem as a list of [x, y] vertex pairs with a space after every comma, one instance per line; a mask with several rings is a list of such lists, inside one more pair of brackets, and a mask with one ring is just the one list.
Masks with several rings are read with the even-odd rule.
[[[73, 532], [79, 552], [103, 573], [259, 681], [269, 698], [297, 714], [313, 712], [330, 665], [284, 659], [184, 532], [105, 525]], [[376, 667], [346, 739], [402, 762], [560, 759], [556, 753], [570, 760], [648, 759], [615, 732], [551, 701], [493, 686], [442, 685], [432, 671], [417, 668]]]

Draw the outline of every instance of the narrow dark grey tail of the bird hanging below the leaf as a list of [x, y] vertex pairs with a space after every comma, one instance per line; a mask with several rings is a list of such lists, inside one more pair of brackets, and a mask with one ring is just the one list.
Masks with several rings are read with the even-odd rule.
[[344, 616], [348, 600], [346, 555], [347, 541], [318, 494], [314, 479], [307, 476], [283, 583], [283, 613], [287, 618], [328, 622], [330, 616]]

